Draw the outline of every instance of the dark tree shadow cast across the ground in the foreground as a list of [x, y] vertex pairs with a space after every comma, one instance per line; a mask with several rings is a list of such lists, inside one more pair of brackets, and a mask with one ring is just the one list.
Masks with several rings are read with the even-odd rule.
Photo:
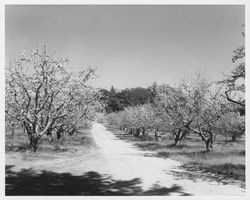
[[52, 171], [36, 172], [33, 169], [12, 170], [13, 165], [6, 166], [6, 195], [190, 195], [182, 188], [173, 185], [170, 188], [153, 185], [149, 190], [141, 188], [141, 180], [114, 180], [109, 175], [97, 172], [87, 172], [81, 176], [70, 173], [56, 173]]

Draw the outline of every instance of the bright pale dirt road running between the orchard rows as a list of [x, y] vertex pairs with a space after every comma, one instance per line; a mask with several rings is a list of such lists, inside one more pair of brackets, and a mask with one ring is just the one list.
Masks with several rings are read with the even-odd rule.
[[169, 188], [170, 191], [171, 188], [181, 188], [182, 193], [173, 190], [170, 195], [245, 195], [245, 190], [238, 185], [178, 178], [174, 174], [185, 173], [179, 168], [181, 163], [171, 159], [145, 157], [145, 152], [118, 139], [100, 123], [93, 124], [92, 134], [105, 163], [109, 166], [109, 173], [115, 179], [138, 178], [145, 190], [155, 186]]

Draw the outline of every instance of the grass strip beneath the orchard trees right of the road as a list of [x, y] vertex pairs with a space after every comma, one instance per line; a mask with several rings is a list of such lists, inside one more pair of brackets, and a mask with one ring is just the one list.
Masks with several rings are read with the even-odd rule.
[[[210, 174], [222, 182], [225, 180], [239, 181], [245, 187], [245, 140], [225, 142], [217, 136], [213, 151], [205, 152], [205, 145], [196, 135], [189, 135], [178, 146], [173, 146], [173, 140], [144, 141], [131, 134], [109, 126], [118, 138], [132, 142], [138, 148], [150, 151], [150, 155], [170, 158], [180, 161], [187, 171], [200, 171], [201, 174]], [[213, 175], [211, 175], [213, 174]], [[214, 176], [216, 175], [216, 176]], [[194, 173], [189, 178], [192, 178]], [[206, 177], [208, 178], [208, 177]]]

